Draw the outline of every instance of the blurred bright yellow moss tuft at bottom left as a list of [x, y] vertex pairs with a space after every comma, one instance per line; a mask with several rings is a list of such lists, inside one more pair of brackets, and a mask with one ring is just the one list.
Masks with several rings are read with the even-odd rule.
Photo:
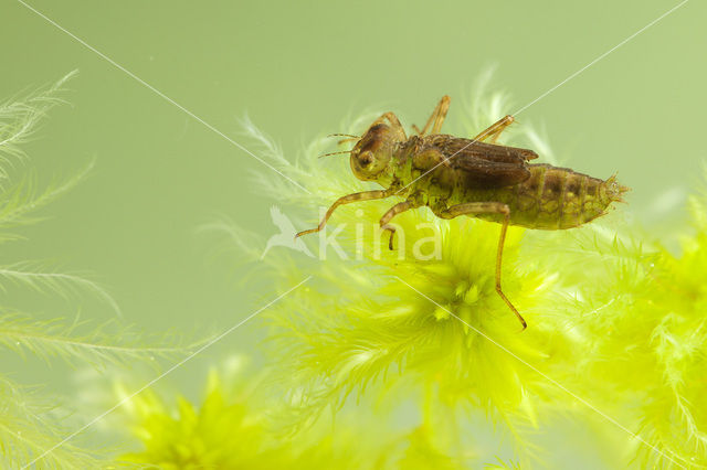
[[[145, 448], [126, 459], [162, 469], [273, 468], [275, 452], [265, 447], [263, 416], [251, 409], [257, 399], [252, 395], [257, 378], [241, 381], [241, 389], [233, 384], [243, 365], [234, 359], [221, 373], [212, 370], [199, 407], [183, 397], [172, 407], [152, 391], [127, 402], [128, 426]], [[125, 386], [118, 388], [125, 389], [118, 398], [129, 393]]]

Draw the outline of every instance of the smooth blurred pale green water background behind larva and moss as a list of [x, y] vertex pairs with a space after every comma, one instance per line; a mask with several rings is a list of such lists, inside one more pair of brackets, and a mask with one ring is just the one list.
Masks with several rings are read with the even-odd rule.
[[[31, 6], [236, 141], [238, 119], [247, 113], [293, 157], [316, 135], [339, 131], [345, 115], [371, 107], [394, 110], [409, 126], [423, 122], [449, 94], [454, 121], [474, 81], [494, 64], [513, 111], [677, 3]], [[633, 189], [630, 206], [620, 210], [656, 236], [666, 222], [685, 217], [679, 202], [700, 182], [707, 157], [705, 18], [705, 2], [688, 2], [518, 119], [546, 126], [563, 164], [602, 178], [618, 171]], [[223, 331], [278, 293], [250, 287], [250, 266], [210, 258], [196, 233], [225, 213], [262, 234], [264, 245], [275, 232], [268, 209], [277, 202], [258, 196], [251, 174], [267, 168], [22, 3], [3, 1], [0, 24], [0, 97], [80, 70], [65, 95], [71, 106], [54, 109], [25, 148], [32, 165], [49, 178], [72, 174], [94, 157], [97, 163], [43, 211], [49, 220], [23, 231], [28, 241], [12, 245], [9, 260], [52, 259], [95, 274], [126, 321], [151, 332]], [[75, 302], [28, 298], [48, 317], [76, 312]], [[97, 302], [82, 305], [86, 319], [114, 314]], [[210, 361], [257, 348], [253, 331], [236, 330], [177, 371], [175, 383], [189, 388], [189, 377], [202, 377]], [[18, 360], [15, 368], [30, 383], [71, 386], [63, 368], [32, 360]]]

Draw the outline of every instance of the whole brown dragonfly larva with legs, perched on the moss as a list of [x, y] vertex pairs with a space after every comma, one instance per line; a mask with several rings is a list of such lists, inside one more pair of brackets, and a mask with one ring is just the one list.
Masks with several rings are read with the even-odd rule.
[[441, 135], [449, 106], [450, 98], [444, 96], [423, 129], [414, 127], [418, 135], [410, 138], [392, 113], [378, 118], [350, 150], [350, 163], [358, 179], [377, 181], [386, 189], [339, 197], [316, 228], [296, 236], [323, 229], [341, 204], [393, 195], [404, 201], [380, 220], [381, 228], [391, 233], [391, 249], [395, 229], [389, 222], [415, 207], [429, 206], [441, 218], [467, 215], [500, 223], [496, 291], [525, 329], [525, 320], [500, 288], [508, 225], [573, 228], [605, 214], [612, 202], [623, 201], [621, 195], [629, 189], [619, 184], [615, 177], [604, 181], [569, 168], [529, 164], [529, 160], [538, 158], [532, 150], [495, 145], [514, 121], [513, 116], [499, 119], [474, 139]]

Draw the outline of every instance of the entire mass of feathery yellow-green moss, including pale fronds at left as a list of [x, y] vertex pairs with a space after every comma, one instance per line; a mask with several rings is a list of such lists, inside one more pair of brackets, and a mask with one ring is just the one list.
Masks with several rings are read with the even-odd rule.
[[[6, 247], [92, 168], [41, 184], [22, 151], [72, 75], [0, 105]], [[458, 107], [465, 116], [450, 116], [446, 132], [473, 136], [506, 114], [508, 97], [487, 83]], [[360, 135], [378, 115], [327, 131]], [[318, 158], [331, 139], [285, 158], [251, 121], [243, 129], [260, 156], [310, 192], [277, 174], [254, 177], [257, 191], [278, 204], [273, 217], [292, 220], [292, 235], [341, 194], [377, 189], [356, 180], [345, 157]], [[503, 138], [556, 163], [547, 139], [527, 124]], [[707, 467], [706, 190], [688, 201], [690, 225], [672, 228], [679, 250], [626, 222], [625, 206], [572, 231], [510, 227], [504, 291], [528, 322], [523, 332], [495, 290], [498, 224], [442, 221], [418, 209], [395, 220], [390, 250], [378, 229], [389, 206], [340, 207], [323, 235], [331, 243], [312, 237], [293, 241], [294, 249], [266, 247], [228, 217], [201, 227], [271, 289], [310, 279], [244, 325], [264, 338], [266, 365], [256, 353], [224, 359], [204, 374], [198, 403], [154, 388], [136, 395], [145, 382], [119, 372], [187, 349], [119, 321], [0, 302], [3, 356], [36, 355], [67, 372], [93, 367], [112, 384], [112, 404], [123, 403], [110, 418], [119, 445], [82, 435], [64, 442], [89, 418], [80, 404], [0, 368], [0, 467], [525, 469], [560, 468], [568, 455], [591, 455], [603, 468]], [[76, 305], [91, 296], [119, 314], [91, 279], [6, 254], [3, 291], [30, 289]]]

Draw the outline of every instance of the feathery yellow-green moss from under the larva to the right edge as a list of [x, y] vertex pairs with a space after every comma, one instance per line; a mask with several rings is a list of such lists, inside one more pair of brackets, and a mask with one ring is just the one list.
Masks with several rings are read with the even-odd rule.
[[[473, 136], [505, 114], [503, 95], [477, 98], [468, 119], [475, 128], [445, 131]], [[489, 109], [493, 115], [484, 113]], [[330, 130], [356, 135], [376, 115]], [[261, 154], [310, 191], [276, 175], [256, 179], [261, 193], [289, 203], [282, 212], [298, 227], [319, 220], [317, 206], [374, 189], [350, 174], [345, 158], [318, 159], [330, 150], [324, 138], [289, 162], [250, 121], [244, 127], [261, 143]], [[537, 133], [525, 138], [528, 147], [548, 152]], [[564, 233], [510, 229], [504, 291], [528, 320], [523, 333], [494, 289], [497, 225], [439, 221], [418, 210], [395, 220], [407, 239], [391, 253], [376, 236], [378, 218], [390, 205], [337, 210], [329, 231], [337, 233], [341, 252], [329, 247], [325, 256], [315, 238], [306, 243], [318, 260], [283, 248], [263, 258], [264, 270], [283, 290], [312, 276], [265, 313], [270, 352], [287, 393], [288, 414], [277, 423], [297, 429], [351, 396], [374, 400], [382, 416], [412, 400], [423, 423], [439, 423], [441, 416], [458, 421], [436, 429], [450, 455], [473, 446], [461, 429], [482, 409], [510, 432], [524, 468], [532, 461], [548, 464], [552, 452], [535, 435], [562, 419], [625, 439], [602, 449], [603, 461], [616, 468], [631, 461], [707, 464], [704, 199], [693, 202], [698, 234], [679, 257], [616, 217]], [[235, 224], [221, 221], [209, 228], [261, 258], [264, 243]], [[412, 256], [415, 244], [433, 233], [440, 241], [436, 256]], [[431, 247], [434, 242], [423, 248], [431, 254]], [[634, 460], [636, 455], [642, 459]]]

